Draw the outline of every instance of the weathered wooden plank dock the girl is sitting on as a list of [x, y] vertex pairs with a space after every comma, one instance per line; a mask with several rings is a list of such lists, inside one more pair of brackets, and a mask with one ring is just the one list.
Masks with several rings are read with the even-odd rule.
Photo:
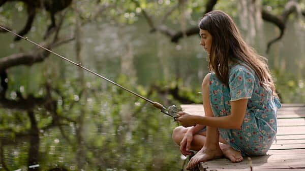
[[[202, 105], [181, 105], [184, 111], [204, 114]], [[277, 141], [265, 156], [251, 157], [252, 170], [305, 170], [305, 104], [283, 104], [278, 111]], [[200, 170], [251, 170], [247, 157], [239, 163], [226, 158], [201, 162]]]

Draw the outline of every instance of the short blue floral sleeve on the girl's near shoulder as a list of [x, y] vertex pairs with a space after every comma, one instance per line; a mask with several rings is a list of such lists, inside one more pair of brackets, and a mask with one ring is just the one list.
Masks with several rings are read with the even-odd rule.
[[231, 101], [250, 99], [254, 88], [254, 75], [249, 70], [239, 67], [234, 68], [229, 76]]

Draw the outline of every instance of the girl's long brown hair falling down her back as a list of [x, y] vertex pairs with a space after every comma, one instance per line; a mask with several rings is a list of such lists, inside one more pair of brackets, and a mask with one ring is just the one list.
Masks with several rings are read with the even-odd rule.
[[216, 76], [228, 86], [229, 61], [246, 65], [254, 70], [261, 86], [265, 89], [270, 88], [272, 94], [278, 97], [266, 63], [267, 59], [255, 53], [242, 39], [230, 16], [222, 11], [211, 11], [201, 19], [199, 28], [207, 30], [212, 36], [208, 57], [209, 71], [214, 71]]

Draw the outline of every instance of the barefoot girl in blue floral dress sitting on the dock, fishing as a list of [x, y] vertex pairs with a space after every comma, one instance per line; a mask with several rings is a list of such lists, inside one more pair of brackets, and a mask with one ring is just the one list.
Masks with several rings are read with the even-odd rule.
[[179, 112], [183, 127], [172, 135], [182, 154], [198, 151], [187, 168], [223, 155], [240, 162], [246, 155], [266, 154], [277, 134], [281, 104], [265, 58], [246, 44], [224, 12], [205, 14], [199, 28], [211, 72], [202, 82], [205, 116]]

